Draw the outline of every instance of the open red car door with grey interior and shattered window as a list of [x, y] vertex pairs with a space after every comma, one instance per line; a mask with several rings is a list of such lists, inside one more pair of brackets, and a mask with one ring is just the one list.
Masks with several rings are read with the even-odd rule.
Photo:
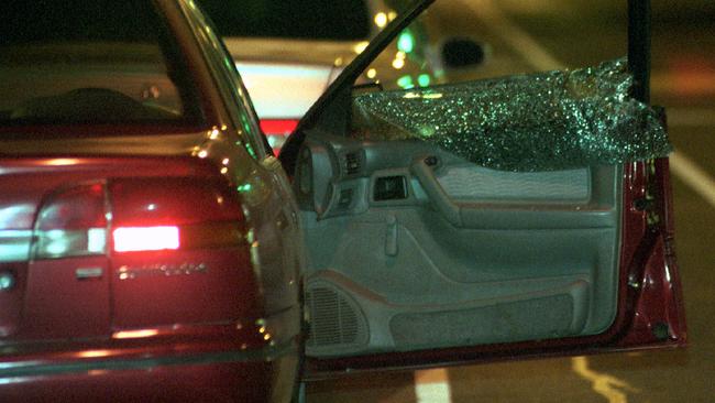
[[[405, 54], [398, 34], [428, 29], [415, 19], [429, 3], [371, 43], [280, 154], [308, 247], [308, 370], [683, 346], [670, 145], [642, 94], [647, 54], [355, 87], [381, 50], [413, 57], [419, 44]], [[638, 36], [648, 4], [631, 6]]]

